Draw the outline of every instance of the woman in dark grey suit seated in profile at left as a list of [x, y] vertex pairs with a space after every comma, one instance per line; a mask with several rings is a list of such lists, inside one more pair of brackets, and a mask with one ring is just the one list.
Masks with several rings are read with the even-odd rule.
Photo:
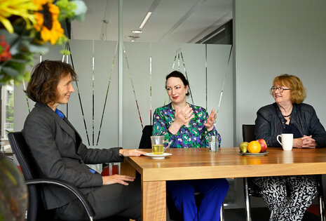
[[[74, 92], [77, 76], [70, 65], [45, 60], [33, 69], [27, 96], [36, 102], [29, 113], [22, 134], [42, 177], [72, 183], [93, 206], [96, 219], [119, 215], [141, 220], [140, 182], [125, 175], [102, 176], [87, 164], [118, 162], [123, 156], [140, 156], [138, 149], [88, 149], [81, 136], [57, 109], [67, 104]], [[55, 209], [64, 220], [82, 220], [86, 211], [67, 189], [43, 187], [46, 209]]]

